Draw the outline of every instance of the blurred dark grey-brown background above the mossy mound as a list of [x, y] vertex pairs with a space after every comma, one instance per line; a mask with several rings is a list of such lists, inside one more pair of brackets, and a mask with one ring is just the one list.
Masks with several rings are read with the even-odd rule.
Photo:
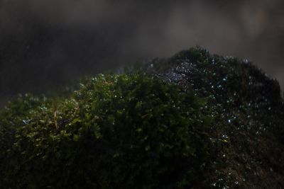
[[283, 0], [0, 0], [0, 107], [199, 45], [284, 86]]

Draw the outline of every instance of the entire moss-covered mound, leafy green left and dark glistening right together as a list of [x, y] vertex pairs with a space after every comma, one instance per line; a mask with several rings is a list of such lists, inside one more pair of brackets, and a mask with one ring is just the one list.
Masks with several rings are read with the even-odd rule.
[[283, 188], [284, 105], [251, 63], [192, 48], [0, 112], [2, 188]]

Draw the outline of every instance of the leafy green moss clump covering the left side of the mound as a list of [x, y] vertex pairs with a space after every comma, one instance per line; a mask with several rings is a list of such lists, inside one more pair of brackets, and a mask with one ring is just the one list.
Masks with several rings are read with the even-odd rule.
[[202, 184], [211, 144], [203, 134], [211, 121], [200, 110], [205, 103], [179, 86], [138, 74], [99, 75], [69, 98], [18, 98], [1, 112], [1, 185]]

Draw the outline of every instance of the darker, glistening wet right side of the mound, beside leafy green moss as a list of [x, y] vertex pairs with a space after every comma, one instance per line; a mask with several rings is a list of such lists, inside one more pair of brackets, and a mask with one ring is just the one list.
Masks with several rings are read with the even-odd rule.
[[[278, 81], [246, 59], [200, 48], [155, 59], [141, 72], [209, 98], [215, 125], [218, 188], [283, 188], [284, 103]], [[221, 168], [222, 167], [222, 168]]]

